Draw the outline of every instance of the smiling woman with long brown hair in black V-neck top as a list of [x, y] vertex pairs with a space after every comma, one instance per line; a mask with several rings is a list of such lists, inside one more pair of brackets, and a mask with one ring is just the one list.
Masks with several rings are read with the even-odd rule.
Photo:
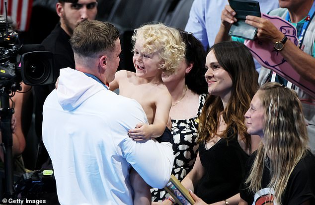
[[238, 42], [212, 46], [206, 68], [210, 95], [199, 121], [199, 153], [181, 183], [196, 193], [191, 195], [198, 203], [238, 204], [245, 162], [254, 149], [244, 114], [258, 89], [258, 74], [249, 50]]

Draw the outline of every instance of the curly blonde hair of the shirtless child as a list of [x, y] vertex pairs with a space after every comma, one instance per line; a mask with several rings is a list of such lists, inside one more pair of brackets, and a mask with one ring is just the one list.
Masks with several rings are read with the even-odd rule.
[[163, 60], [160, 68], [166, 75], [174, 73], [185, 57], [186, 49], [179, 31], [162, 23], [146, 24], [135, 29], [132, 36], [133, 45], [139, 37], [144, 41], [143, 52], [151, 54], [158, 51], [160, 59]]

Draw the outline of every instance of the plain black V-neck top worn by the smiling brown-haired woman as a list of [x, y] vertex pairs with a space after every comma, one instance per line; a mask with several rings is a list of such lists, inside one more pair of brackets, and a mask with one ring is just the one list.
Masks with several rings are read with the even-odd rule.
[[195, 187], [196, 194], [207, 204], [224, 201], [239, 193], [248, 155], [240, 147], [237, 136], [221, 138], [210, 149], [199, 144], [199, 156], [205, 173]]

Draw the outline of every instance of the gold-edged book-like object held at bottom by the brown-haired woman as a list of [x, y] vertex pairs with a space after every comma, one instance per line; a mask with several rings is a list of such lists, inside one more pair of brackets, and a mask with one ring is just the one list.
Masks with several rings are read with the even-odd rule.
[[164, 189], [172, 196], [178, 205], [194, 205], [195, 201], [190, 196], [188, 190], [176, 179], [170, 176], [169, 182]]

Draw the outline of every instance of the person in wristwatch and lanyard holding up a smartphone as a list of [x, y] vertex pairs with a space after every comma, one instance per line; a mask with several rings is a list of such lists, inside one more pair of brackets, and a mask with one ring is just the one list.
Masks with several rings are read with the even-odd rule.
[[[257, 38], [274, 45], [275, 51], [280, 53], [293, 69], [310, 83], [315, 82], [315, 2], [314, 0], [279, 0], [280, 8], [270, 11], [269, 15], [277, 15], [286, 19], [297, 28], [299, 46], [296, 46], [276, 28], [268, 19], [257, 16], [246, 16], [246, 23], [257, 28]], [[216, 36], [216, 42], [229, 41], [229, 29], [237, 21], [236, 12], [230, 5], [226, 5], [221, 15], [221, 26]], [[238, 40], [238, 39], [236, 39]], [[271, 78], [272, 71], [261, 68], [259, 84], [276, 81], [287, 85], [287, 80], [276, 76]], [[292, 88], [298, 93], [302, 102], [307, 130], [310, 136], [309, 146], [315, 154], [315, 97], [307, 94], [297, 86]]]

